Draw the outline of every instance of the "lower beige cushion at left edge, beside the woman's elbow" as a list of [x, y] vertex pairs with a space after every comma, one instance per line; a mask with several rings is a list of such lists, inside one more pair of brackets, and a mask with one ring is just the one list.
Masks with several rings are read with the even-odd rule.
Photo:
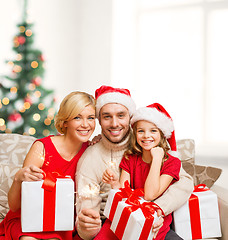
[[0, 164], [0, 220], [5, 217], [9, 210], [7, 194], [14, 175], [20, 168], [20, 166], [17, 167], [14, 164]]

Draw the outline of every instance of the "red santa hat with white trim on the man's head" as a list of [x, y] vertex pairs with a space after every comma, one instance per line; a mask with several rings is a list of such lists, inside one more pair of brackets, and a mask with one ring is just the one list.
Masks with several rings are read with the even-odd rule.
[[113, 88], [110, 86], [101, 86], [95, 91], [96, 115], [99, 116], [100, 109], [108, 103], [119, 103], [129, 110], [132, 115], [135, 112], [136, 106], [131, 98], [130, 91], [124, 88]]

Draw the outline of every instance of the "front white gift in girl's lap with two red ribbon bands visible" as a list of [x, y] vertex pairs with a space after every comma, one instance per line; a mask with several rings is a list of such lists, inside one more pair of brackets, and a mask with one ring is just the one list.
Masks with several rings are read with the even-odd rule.
[[[133, 197], [134, 198], [134, 197]], [[111, 230], [118, 239], [146, 240], [153, 239], [152, 226], [159, 218], [153, 202], [128, 198], [118, 203]]]

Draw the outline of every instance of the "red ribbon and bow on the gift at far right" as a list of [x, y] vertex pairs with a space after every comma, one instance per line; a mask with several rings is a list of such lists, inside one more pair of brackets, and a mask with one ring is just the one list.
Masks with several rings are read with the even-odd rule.
[[[205, 192], [208, 190], [209, 188], [205, 184], [199, 184], [194, 187], [193, 192]], [[195, 194], [192, 194], [189, 198], [189, 214], [191, 221], [192, 239], [202, 239], [199, 199]]]

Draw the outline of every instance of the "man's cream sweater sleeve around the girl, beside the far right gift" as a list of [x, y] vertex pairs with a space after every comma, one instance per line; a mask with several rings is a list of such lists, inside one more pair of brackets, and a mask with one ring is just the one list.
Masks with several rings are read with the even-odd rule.
[[175, 182], [154, 202], [161, 207], [165, 215], [181, 207], [190, 197], [194, 188], [192, 177], [180, 169], [180, 179]]

